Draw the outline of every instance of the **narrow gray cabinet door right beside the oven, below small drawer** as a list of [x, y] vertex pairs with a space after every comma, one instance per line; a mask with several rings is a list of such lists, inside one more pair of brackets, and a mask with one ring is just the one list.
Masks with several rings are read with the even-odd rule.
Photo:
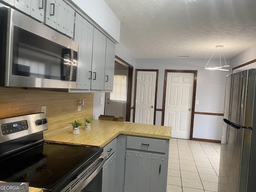
[[114, 192], [116, 182], [116, 152], [108, 158], [102, 170], [102, 192]]

